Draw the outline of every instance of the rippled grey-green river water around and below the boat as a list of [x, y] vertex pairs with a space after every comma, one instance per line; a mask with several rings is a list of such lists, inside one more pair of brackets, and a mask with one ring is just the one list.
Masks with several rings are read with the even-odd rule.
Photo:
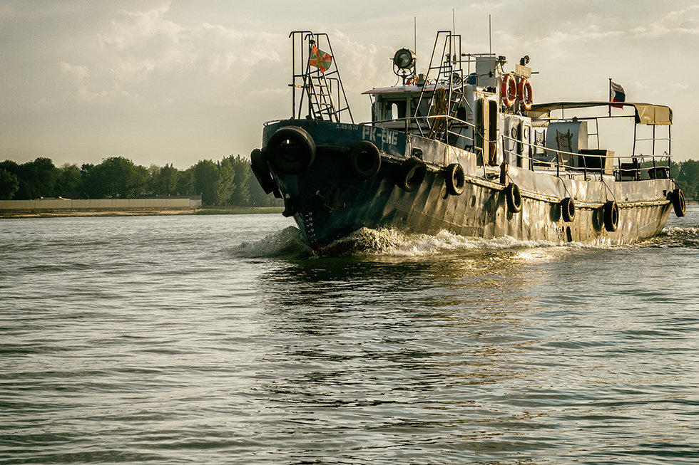
[[0, 220], [0, 464], [699, 462], [699, 207], [635, 246]]

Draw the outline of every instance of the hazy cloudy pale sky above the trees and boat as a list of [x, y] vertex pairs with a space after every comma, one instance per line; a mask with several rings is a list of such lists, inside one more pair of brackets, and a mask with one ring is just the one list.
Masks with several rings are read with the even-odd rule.
[[[453, 9], [453, 15], [452, 15]], [[290, 117], [290, 31], [326, 32], [355, 122], [364, 90], [393, 85], [390, 59], [455, 26], [464, 52], [514, 69], [529, 55], [534, 102], [607, 100], [673, 108], [675, 160], [699, 158], [695, 1], [0, 0], [0, 160], [49, 157], [185, 169], [248, 157], [262, 124]]]

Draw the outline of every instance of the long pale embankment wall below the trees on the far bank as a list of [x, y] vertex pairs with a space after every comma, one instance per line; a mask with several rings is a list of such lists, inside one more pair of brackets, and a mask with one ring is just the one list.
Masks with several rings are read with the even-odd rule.
[[0, 200], [1, 210], [188, 210], [201, 208], [201, 199], [34, 199]]

